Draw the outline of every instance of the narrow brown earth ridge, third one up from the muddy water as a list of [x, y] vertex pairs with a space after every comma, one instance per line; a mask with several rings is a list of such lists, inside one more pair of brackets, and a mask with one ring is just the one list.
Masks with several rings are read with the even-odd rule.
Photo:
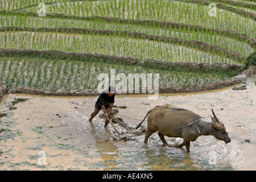
[[214, 52], [214, 55], [224, 56], [228, 59], [236, 60], [242, 63], [246, 60], [245, 56], [240, 55], [239, 53], [230, 51], [229, 49], [214, 46], [212, 44], [199, 42], [197, 40], [185, 40], [179, 38], [172, 38], [166, 36], [158, 36], [158, 35], [149, 35], [138, 32], [129, 32], [129, 31], [113, 31], [113, 30], [94, 30], [94, 29], [86, 29], [86, 28], [35, 28], [35, 27], [2, 27], [0, 28], [0, 32], [6, 31], [31, 31], [31, 32], [58, 32], [58, 33], [72, 33], [72, 34], [99, 34], [99, 35], [107, 35], [107, 36], [115, 36], [121, 35], [122, 37], [129, 38], [137, 38], [137, 39], [147, 39], [160, 41], [163, 43], [170, 43], [176, 46], [185, 46], [188, 48], [196, 49], [199, 51], [203, 51], [205, 53]]

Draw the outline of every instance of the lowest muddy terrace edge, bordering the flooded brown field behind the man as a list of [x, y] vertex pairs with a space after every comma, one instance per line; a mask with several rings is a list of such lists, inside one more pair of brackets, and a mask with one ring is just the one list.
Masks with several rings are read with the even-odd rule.
[[[243, 71], [240, 75], [229, 78], [227, 80], [211, 82], [205, 85], [187, 85], [187, 86], [159, 86], [159, 94], [161, 93], [193, 93], [193, 92], [205, 92], [210, 90], [222, 89], [228, 86], [240, 84], [246, 81], [248, 78], [256, 73], [256, 67], [250, 66], [248, 69]], [[133, 89], [135, 90], [135, 88]], [[32, 94], [40, 96], [98, 96], [97, 89], [88, 90], [65, 90], [65, 89], [53, 89], [53, 90], [43, 90], [38, 88], [26, 88], [18, 87], [15, 89], [9, 89], [5, 84], [0, 84], [0, 102], [6, 94]], [[135, 93], [135, 92], [134, 92]], [[123, 95], [124, 93], [117, 94]], [[137, 94], [137, 93], [136, 93]], [[139, 93], [142, 94], [142, 93]], [[148, 93], [146, 93], [148, 94]]]

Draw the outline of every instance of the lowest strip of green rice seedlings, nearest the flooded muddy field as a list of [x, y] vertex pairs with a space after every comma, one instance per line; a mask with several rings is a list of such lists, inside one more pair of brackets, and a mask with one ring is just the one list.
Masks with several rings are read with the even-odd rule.
[[[53, 65], [53, 60], [42, 58], [39, 60], [41, 64], [34, 64], [35, 59], [38, 60], [38, 58], [28, 59], [27, 67], [30, 65], [30, 69], [32, 70], [29, 74], [26, 74], [26, 72], [20, 73], [15, 71], [15, 69], [18, 70], [18, 67], [21, 67], [21, 65], [24, 67], [24, 64], [20, 61], [20, 64], [17, 64], [18, 60], [13, 59], [13, 68], [9, 68], [10, 72], [7, 74], [7, 77], [0, 81], [5, 81], [6, 84], [9, 84], [10, 88], [16, 86], [28, 86], [42, 89], [95, 89], [97, 88], [98, 82], [97, 75], [100, 73], [110, 73], [110, 69], [115, 69], [116, 73], [125, 73], [126, 75], [129, 73], [159, 73], [161, 78], [160, 85], [167, 86], [205, 84], [208, 81], [226, 79], [227, 77], [236, 75], [236, 73], [230, 75], [226, 72], [216, 72], [217, 74], [214, 72], [186, 72], [183, 71], [183, 69], [172, 70], [171, 68], [165, 69], [164, 67], [155, 67], [151, 69], [140, 66], [134, 67], [133, 65], [111, 65], [105, 64], [103, 61], [96, 63], [93, 63], [92, 61], [83, 62], [81, 64], [81, 61], [73, 60], [54, 60], [56, 69], [52, 69], [51, 66]], [[88, 74], [88, 72], [91, 74]], [[18, 81], [21, 74], [23, 77], [26, 77], [22, 82]], [[210, 78], [210, 80], [208, 78]], [[47, 82], [47, 84], [45, 82]]]

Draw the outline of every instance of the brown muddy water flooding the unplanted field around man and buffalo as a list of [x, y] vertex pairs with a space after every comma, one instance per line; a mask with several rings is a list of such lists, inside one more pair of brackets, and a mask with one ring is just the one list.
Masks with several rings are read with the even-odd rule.
[[[117, 96], [118, 117], [142, 119], [156, 105], [172, 104], [200, 114], [210, 121], [210, 109], [224, 122], [232, 142], [201, 136], [185, 148], [162, 145], [157, 133], [144, 144], [143, 129], [133, 129], [140, 121], [122, 117], [126, 131], [118, 123], [118, 136], [97, 115], [88, 122], [97, 97], [43, 97], [9, 94], [1, 104], [7, 116], [0, 122], [1, 170], [255, 170], [256, 158], [256, 77], [246, 82], [246, 90], [225, 88], [193, 94], [162, 94], [156, 100], [129, 94]], [[29, 98], [15, 104], [14, 98]], [[100, 112], [102, 113], [102, 111]], [[245, 142], [249, 139], [250, 142]], [[170, 145], [180, 138], [167, 138]], [[46, 157], [38, 155], [43, 151]], [[45, 160], [44, 160], [45, 159]], [[45, 162], [45, 163], [44, 163]]]

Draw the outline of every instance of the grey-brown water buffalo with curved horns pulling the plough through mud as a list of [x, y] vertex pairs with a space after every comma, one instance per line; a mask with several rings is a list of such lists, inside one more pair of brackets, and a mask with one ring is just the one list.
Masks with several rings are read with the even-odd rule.
[[[170, 104], [156, 106], [147, 112], [147, 131], [144, 143], [147, 143], [148, 137], [158, 131], [160, 139], [164, 145], [167, 145], [164, 135], [167, 137], [183, 138], [183, 143], [176, 147], [183, 147], [189, 152], [190, 142], [194, 142], [201, 135], [213, 135], [217, 139], [224, 140], [229, 143], [231, 140], [226, 133], [225, 126], [218, 120], [213, 110], [212, 122], [205, 122], [200, 115], [193, 113], [187, 109], [181, 109]], [[144, 117], [143, 121], [146, 119]], [[142, 122], [143, 122], [142, 121]], [[141, 123], [136, 127], [138, 129]]]

